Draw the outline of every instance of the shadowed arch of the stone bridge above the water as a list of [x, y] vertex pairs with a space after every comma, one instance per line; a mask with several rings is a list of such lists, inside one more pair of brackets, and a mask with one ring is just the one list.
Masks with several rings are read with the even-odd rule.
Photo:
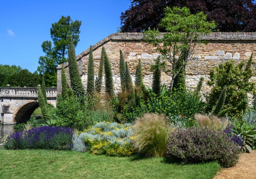
[[[51, 104], [47, 101], [48, 104]], [[52, 104], [51, 104], [52, 105]], [[54, 106], [54, 105], [53, 105]], [[32, 113], [39, 107], [37, 100], [29, 100], [21, 104], [12, 115], [12, 120], [15, 123], [26, 122], [30, 119]]]

